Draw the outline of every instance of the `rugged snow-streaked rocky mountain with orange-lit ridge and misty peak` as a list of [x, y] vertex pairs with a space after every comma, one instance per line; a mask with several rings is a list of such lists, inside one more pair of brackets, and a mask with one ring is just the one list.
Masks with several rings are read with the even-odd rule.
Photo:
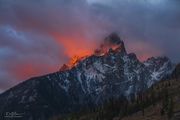
[[124, 42], [113, 33], [94, 54], [2, 93], [0, 114], [15, 112], [20, 119], [46, 120], [144, 91], [169, 76], [173, 68], [167, 57], [140, 62], [134, 53], [126, 52]]

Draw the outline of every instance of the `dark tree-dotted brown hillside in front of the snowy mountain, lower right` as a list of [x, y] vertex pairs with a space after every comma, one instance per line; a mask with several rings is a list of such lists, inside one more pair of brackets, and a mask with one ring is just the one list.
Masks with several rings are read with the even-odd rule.
[[[110, 100], [96, 109], [52, 120], [180, 120], [179, 71], [177, 65], [171, 79], [159, 81], [144, 93], [139, 93], [133, 101], [129, 99], [128, 103], [122, 99]], [[178, 74], [174, 76], [175, 73]]]

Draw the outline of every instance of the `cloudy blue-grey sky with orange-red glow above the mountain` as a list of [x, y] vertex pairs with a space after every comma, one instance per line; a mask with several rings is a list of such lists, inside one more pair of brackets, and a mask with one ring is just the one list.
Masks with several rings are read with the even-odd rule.
[[141, 61], [180, 62], [179, 0], [0, 0], [0, 92], [91, 54], [116, 32]]

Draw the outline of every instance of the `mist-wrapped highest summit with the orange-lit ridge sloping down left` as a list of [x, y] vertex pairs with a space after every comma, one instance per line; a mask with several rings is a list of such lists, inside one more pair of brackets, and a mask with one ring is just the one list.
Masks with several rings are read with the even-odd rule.
[[61, 66], [60, 71], [69, 70], [88, 57], [104, 56], [112, 53], [127, 54], [124, 46], [124, 42], [120, 39], [117, 33], [111, 33], [109, 36], [107, 36], [102, 41], [100, 46], [94, 50], [93, 54], [82, 57], [73, 56], [68, 64], [63, 64], [63, 66]]

